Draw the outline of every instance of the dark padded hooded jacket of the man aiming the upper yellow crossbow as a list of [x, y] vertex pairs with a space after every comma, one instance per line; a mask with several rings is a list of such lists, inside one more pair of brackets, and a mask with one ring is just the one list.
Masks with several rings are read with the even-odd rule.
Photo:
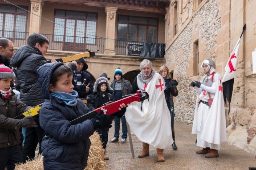
[[11, 66], [17, 68], [20, 100], [27, 106], [34, 107], [45, 100], [37, 79], [37, 69], [45, 63], [47, 61], [41, 51], [28, 45], [20, 47], [11, 58]]

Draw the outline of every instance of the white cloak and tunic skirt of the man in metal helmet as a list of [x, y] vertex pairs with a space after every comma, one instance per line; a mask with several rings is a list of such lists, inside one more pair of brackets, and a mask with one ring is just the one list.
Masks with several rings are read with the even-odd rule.
[[[203, 78], [200, 82], [202, 83], [202, 81]], [[215, 94], [211, 94], [211, 97], [214, 96], [211, 108], [203, 103], [200, 103], [199, 106], [198, 103], [200, 99], [207, 101], [208, 95], [202, 98], [202, 91], [201, 94], [197, 96], [192, 134], [200, 135], [198, 137], [205, 142], [220, 145], [221, 142], [227, 141], [227, 135], [222, 82], [219, 73], [215, 73], [214, 82], [216, 91]], [[206, 94], [208, 94], [208, 92]]]

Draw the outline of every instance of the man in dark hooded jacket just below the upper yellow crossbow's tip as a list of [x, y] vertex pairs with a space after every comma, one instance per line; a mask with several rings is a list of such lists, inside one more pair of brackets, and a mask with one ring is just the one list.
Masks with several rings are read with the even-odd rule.
[[85, 72], [88, 68], [84, 58], [76, 60], [77, 70], [73, 72], [74, 90], [77, 91], [79, 98], [86, 99], [86, 96], [93, 92], [92, 77]]

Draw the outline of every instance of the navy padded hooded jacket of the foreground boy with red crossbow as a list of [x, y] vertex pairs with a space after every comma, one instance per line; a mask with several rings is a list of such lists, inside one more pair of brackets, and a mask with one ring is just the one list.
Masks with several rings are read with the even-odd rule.
[[63, 63], [46, 63], [37, 70], [45, 103], [40, 109], [39, 120], [45, 130], [42, 142], [44, 170], [83, 170], [87, 166], [93, 123], [85, 120], [71, 125], [69, 122], [89, 112], [77, 99], [75, 107], [67, 106], [61, 99], [50, 95], [49, 85], [55, 68]]

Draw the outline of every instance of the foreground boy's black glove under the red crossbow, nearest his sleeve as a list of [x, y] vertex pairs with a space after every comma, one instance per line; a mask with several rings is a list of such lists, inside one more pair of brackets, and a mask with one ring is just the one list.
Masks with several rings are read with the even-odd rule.
[[111, 119], [110, 119], [110, 116], [109, 115], [102, 115], [103, 114], [103, 111], [99, 111], [97, 113], [97, 115], [91, 119], [92, 123], [93, 123], [93, 127], [95, 130], [101, 128], [110, 128], [112, 127], [111, 126]]

